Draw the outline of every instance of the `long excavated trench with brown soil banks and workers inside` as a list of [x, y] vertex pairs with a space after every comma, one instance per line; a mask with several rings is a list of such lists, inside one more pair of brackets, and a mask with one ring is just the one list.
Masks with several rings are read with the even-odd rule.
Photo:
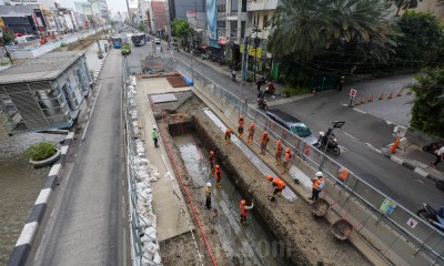
[[[371, 265], [349, 241], [333, 236], [325, 218], [313, 217], [310, 204], [300, 198], [307, 195], [286, 188], [275, 202], [269, 200], [273, 187], [265, 173], [280, 172], [264, 164], [256, 144], [245, 144], [245, 134], [225, 145], [225, 125], [216, 112], [189, 88], [161, 92], [155, 83], [160, 79], [151, 80], [154, 83], [144, 89], [143, 81], [138, 82], [137, 99], [152, 111], [165, 151], [162, 160], [172, 165], [192, 224], [192, 229], [160, 241], [163, 265]], [[173, 92], [178, 101], [152, 104], [151, 94], [164, 92]], [[215, 188], [210, 174], [210, 150], [222, 167], [222, 188]], [[210, 211], [204, 196], [208, 181], [212, 183]], [[248, 205], [254, 201], [248, 225], [240, 223], [241, 198]]]

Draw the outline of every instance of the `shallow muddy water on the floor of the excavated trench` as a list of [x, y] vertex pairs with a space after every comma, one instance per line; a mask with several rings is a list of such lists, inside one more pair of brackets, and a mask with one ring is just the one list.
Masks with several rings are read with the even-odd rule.
[[212, 207], [218, 213], [214, 217], [214, 229], [218, 233], [226, 256], [229, 258], [250, 258], [255, 265], [285, 265], [279, 255], [275, 256], [276, 243], [273, 242], [272, 237], [261, 226], [254, 215], [249, 214], [248, 226], [240, 224], [239, 203], [241, 194], [239, 190], [226, 177], [223, 168], [221, 181], [223, 188], [215, 188], [214, 174], [210, 174], [209, 172], [210, 165], [206, 156], [209, 151], [201, 150], [196, 141], [191, 134], [174, 137], [175, 145], [194, 182], [194, 187], [202, 191], [202, 207], [204, 207], [203, 186], [206, 181], [211, 181], [212, 183]]

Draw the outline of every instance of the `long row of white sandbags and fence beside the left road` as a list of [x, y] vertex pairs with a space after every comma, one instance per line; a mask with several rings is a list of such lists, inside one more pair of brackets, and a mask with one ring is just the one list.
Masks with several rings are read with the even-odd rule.
[[127, 175], [132, 265], [161, 265], [157, 239], [157, 217], [152, 211], [151, 183], [159, 177], [158, 170], [145, 158], [141, 127], [133, 99], [135, 78], [123, 64], [123, 115], [127, 147]]

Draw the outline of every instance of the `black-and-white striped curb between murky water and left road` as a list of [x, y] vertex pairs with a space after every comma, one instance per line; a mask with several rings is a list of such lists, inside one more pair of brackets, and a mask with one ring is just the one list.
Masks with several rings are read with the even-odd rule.
[[47, 176], [47, 181], [44, 182], [44, 185], [36, 200], [34, 206], [29, 214], [23, 229], [21, 231], [19, 239], [17, 241], [16, 246], [12, 249], [12, 253], [7, 264], [8, 266], [24, 265], [31, 249], [32, 242], [43, 218], [44, 212], [47, 211], [47, 205], [51, 198], [51, 194], [59, 182], [59, 175], [62, 171], [63, 163], [67, 161], [68, 150], [73, 137], [74, 132], [69, 132], [67, 137], [64, 139], [63, 146], [60, 150], [60, 157], [58, 161], [56, 161], [54, 165], [52, 165], [51, 171]]

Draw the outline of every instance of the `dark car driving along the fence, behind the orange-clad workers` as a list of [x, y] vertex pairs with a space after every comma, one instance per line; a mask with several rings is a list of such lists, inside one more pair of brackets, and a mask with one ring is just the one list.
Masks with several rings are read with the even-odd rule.
[[309, 126], [293, 115], [279, 109], [270, 109], [266, 111], [266, 116], [289, 130], [293, 135], [301, 137], [304, 142], [310, 143], [311, 145], [317, 143], [317, 139], [310, 131]]

